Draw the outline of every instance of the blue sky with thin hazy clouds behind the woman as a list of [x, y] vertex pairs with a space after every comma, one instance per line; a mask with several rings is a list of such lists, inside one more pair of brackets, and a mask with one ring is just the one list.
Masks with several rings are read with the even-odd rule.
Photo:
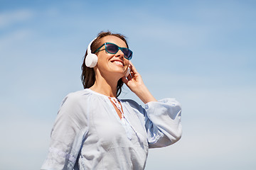
[[87, 44], [111, 30], [151, 93], [183, 106], [183, 137], [146, 169], [255, 169], [255, 17], [255, 1], [0, 1], [1, 168], [41, 167]]

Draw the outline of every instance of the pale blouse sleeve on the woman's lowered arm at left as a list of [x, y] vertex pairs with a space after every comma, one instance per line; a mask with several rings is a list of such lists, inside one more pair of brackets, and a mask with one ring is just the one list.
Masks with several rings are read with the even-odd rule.
[[75, 166], [87, 132], [85, 109], [75, 94], [63, 100], [50, 135], [48, 157], [41, 170], [67, 169]]

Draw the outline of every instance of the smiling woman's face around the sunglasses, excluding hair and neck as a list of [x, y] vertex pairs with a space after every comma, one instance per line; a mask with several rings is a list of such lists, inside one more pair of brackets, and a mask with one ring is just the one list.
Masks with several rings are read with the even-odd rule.
[[[111, 42], [119, 47], [127, 47], [125, 42], [114, 35], [108, 35], [101, 39], [100, 45]], [[97, 53], [97, 69], [102, 76], [117, 76], [117, 79], [124, 77], [129, 66], [129, 60], [124, 58], [124, 53], [119, 50], [116, 54], [110, 54], [105, 49], [105, 45]]]

